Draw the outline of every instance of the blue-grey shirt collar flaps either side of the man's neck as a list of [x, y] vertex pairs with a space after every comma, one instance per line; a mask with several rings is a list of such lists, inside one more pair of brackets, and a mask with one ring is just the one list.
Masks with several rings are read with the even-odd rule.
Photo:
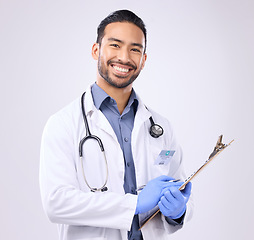
[[[94, 83], [92, 85], [91, 92], [92, 92], [92, 96], [93, 96], [94, 105], [97, 109], [100, 109], [101, 105], [103, 104], [103, 102], [106, 101], [106, 99], [111, 100], [112, 102], [115, 103], [115, 100], [113, 98], [111, 98], [96, 83]], [[134, 110], [136, 112], [137, 107], [138, 107], [138, 98], [137, 98], [137, 95], [136, 95], [134, 89], [132, 89], [132, 92], [131, 92], [131, 95], [130, 95], [130, 98], [129, 98], [126, 108], [130, 108], [132, 106], [132, 104], [133, 104]]]

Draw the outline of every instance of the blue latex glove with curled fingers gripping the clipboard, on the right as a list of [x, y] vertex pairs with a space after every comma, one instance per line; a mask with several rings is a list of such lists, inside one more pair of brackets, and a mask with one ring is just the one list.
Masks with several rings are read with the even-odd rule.
[[189, 182], [182, 191], [178, 189], [181, 186], [181, 182], [178, 183], [180, 185], [174, 184], [167, 190], [164, 190], [163, 196], [158, 203], [162, 214], [172, 219], [180, 218], [184, 214], [186, 211], [186, 204], [191, 195], [191, 182]]

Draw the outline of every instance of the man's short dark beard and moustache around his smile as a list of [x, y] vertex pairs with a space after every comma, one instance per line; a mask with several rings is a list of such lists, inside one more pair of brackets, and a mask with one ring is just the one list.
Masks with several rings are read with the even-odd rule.
[[[125, 77], [125, 76], [115, 75], [115, 77], [118, 78], [118, 79], [122, 79], [122, 80], [127, 79], [127, 78], [129, 78], [129, 79], [127, 79], [126, 81], [120, 81], [120, 82], [118, 82], [117, 80], [114, 81], [109, 76], [109, 71], [108, 71], [108, 68], [107, 68], [107, 66], [109, 67], [110, 64], [112, 64], [112, 63], [113, 63], [113, 61], [111, 61], [111, 60], [107, 61], [107, 64], [102, 63], [101, 58], [99, 56], [99, 60], [98, 60], [98, 72], [99, 72], [100, 76], [107, 83], [109, 83], [111, 86], [116, 87], [116, 88], [125, 88], [125, 87], [129, 86], [130, 84], [132, 84], [135, 81], [135, 79], [138, 77], [138, 75], [141, 72], [141, 69], [140, 69], [135, 74], [133, 74], [131, 77], [129, 77], [129, 76]], [[122, 62], [117, 62], [117, 63], [121, 63], [123, 65], [130, 66], [134, 71], [136, 71], [136, 69], [137, 69], [134, 65], [132, 65], [130, 63], [127, 63], [127, 64], [124, 64]]]

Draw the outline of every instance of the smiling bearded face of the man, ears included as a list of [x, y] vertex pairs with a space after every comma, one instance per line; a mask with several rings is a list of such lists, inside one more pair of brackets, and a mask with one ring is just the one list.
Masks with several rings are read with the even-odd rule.
[[144, 34], [139, 27], [127, 22], [111, 23], [104, 33], [101, 44], [93, 46], [93, 56], [98, 60], [98, 81], [125, 88], [144, 67]]

